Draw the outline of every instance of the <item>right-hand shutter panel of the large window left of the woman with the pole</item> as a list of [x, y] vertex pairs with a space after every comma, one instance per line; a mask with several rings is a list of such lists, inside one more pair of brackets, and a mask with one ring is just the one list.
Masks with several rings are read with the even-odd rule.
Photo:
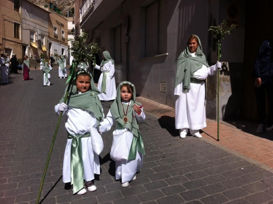
[[159, 10], [159, 50], [158, 54], [167, 52], [168, 0], [160, 1]]

